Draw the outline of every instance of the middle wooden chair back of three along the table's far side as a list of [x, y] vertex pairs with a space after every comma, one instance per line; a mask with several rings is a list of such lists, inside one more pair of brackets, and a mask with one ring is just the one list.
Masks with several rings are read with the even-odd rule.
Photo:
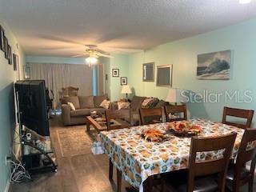
[[162, 108], [139, 109], [141, 125], [162, 122]]

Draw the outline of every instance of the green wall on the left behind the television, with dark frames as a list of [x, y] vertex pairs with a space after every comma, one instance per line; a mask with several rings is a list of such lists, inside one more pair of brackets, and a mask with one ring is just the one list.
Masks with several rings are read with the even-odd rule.
[[[12, 51], [19, 55], [23, 66], [25, 58], [22, 49], [16, 46], [17, 40], [1, 19], [0, 25], [5, 29]], [[5, 158], [6, 155], [10, 155], [12, 134], [16, 125], [14, 82], [18, 78], [18, 72], [14, 71], [13, 65], [8, 64], [2, 50], [0, 50], [0, 68], [0, 191], [4, 191], [10, 175], [10, 167], [6, 166]], [[22, 73], [22, 69], [20, 72]]]

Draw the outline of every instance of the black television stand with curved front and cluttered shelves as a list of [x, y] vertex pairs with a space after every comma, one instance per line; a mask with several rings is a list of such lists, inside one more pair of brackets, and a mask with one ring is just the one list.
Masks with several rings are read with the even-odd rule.
[[42, 143], [39, 141], [39, 139], [27, 140], [22, 137], [22, 164], [30, 174], [46, 171], [57, 172], [58, 165], [50, 137], [46, 138], [46, 142], [50, 142], [48, 149], [42, 149], [42, 145], [40, 145]]

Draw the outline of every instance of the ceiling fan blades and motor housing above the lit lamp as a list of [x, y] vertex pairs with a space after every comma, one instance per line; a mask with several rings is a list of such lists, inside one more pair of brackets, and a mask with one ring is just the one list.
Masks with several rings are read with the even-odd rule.
[[85, 52], [79, 53], [72, 57], [78, 58], [78, 57], [82, 57], [82, 56], [89, 56], [89, 58], [99, 58], [99, 57], [113, 58], [109, 54], [106, 54], [104, 51], [96, 49], [97, 46], [95, 46], [95, 45], [86, 45], [85, 47], [86, 47]]

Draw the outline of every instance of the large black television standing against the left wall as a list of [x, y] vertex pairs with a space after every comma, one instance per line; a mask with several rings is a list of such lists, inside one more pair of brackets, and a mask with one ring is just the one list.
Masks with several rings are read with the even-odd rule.
[[49, 136], [44, 80], [25, 80], [15, 83], [19, 122], [42, 136]]

